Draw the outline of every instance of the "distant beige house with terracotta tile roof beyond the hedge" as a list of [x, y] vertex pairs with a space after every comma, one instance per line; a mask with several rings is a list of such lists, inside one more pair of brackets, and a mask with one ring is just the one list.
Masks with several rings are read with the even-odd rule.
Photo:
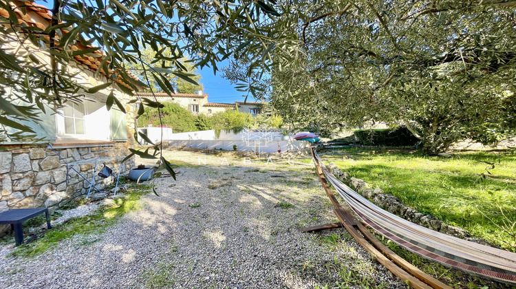
[[266, 105], [266, 103], [244, 103], [243, 101], [235, 101], [235, 103], [208, 103], [208, 94], [202, 94], [202, 92], [199, 94], [173, 94], [173, 96], [163, 92], [155, 92], [154, 95], [150, 92], [138, 92], [136, 95], [147, 98], [155, 96], [160, 103], [176, 103], [192, 114], [204, 114], [206, 116], [236, 108], [238, 108], [238, 111], [257, 116], [261, 114], [264, 105]]

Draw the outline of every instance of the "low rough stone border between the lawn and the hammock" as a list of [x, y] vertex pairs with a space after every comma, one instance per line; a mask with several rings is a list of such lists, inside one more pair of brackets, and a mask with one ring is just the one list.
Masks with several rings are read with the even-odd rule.
[[394, 195], [384, 193], [382, 189], [372, 189], [366, 182], [361, 179], [352, 178], [347, 173], [341, 171], [336, 167], [334, 163], [330, 163], [327, 167], [331, 173], [333, 173], [338, 179], [352, 186], [356, 192], [360, 193], [364, 197], [367, 197], [370, 201], [374, 202], [377, 206], [380, 206], [385, 211], [389, 211], [395, 215], [398, 215], [405, 220], [419, 224], [426, 228], [430, 228], [433, 231], [438, 231], [447, 235], [459, 237], [461, 239], [467, 239], [469, 241], [477, 242], [480, 244], [493, 246], [484, 239], [471, 237], [468, 232], [463, 228], [457, 226], [451, 226], [440, 220], [437, 220], [433, 215], [424, 215], [418, 213], [414, 208], [405, 206], [400, 202]]

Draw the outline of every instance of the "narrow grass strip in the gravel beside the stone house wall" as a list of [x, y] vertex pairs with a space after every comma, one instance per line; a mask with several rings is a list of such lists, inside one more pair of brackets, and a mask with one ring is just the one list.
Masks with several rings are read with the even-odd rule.
[[49, 231], [45, 231], [43, 236], [37, 237], [34, 242], [18, 246], [11, 255], [31, 257], [44, 253], [61, 240], [74, 235], [103, 233], [108, 226], [114, 224], [122, 215], [140, 209], [140, 197], [150, 191], [148, 185], [139, 185], [135, 186], [135, 189], [128, 189], [125, 192], [125, 197], [115, 199], [113, 205], [103, 206], [93, 215], [76, 217], [63, 224], [57, 224]]

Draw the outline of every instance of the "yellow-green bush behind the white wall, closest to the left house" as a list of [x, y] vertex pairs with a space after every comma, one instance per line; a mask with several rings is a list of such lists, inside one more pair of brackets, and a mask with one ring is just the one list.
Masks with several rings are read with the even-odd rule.
[[[175, 103], [163, 103], [163, 105], [164, 107], [160, 109], [162, 124], [172, 127], [174, 133], [198, 130], [196, 118], [190, 111]], [[145, 113], [138, 118], [138, 126], [147, 127], [149, 124], [160, 124], [157, 108], [146, 109]]]

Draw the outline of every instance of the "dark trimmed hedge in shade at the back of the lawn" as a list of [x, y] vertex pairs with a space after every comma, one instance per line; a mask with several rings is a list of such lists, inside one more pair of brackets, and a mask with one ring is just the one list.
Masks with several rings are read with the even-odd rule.
[[381, 147], [414, 147], [420, 142], [407, 127], [392, 129], [361, 129], [354, 132], [363, 145]]

